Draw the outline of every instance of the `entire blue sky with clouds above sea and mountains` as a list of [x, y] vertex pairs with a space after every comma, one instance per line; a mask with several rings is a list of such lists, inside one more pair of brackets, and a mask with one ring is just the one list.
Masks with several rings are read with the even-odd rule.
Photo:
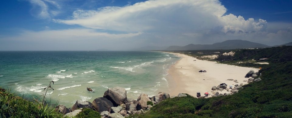
[[292, 42], [291, 0], [1, 0], [0, 50]]

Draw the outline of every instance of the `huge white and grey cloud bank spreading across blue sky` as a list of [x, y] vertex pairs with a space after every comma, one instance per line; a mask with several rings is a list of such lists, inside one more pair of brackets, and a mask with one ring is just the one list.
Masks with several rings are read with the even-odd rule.
[[[30, 0], [31, 2], [32, 0]], [[61, 9], [55, 2], [47, 3]], [[38, 4], [36, 4], [38, 3]], [[43, 5], [41, 18], [52, 16]], [[226, 14], [218, 0], [150, 0], [122, 7], [106, 6], [97, 10], [78, 9], [67, 19], [52, 19], [57, 24], [80, 26], [78, 28], [31, 31], [20, 30], [19, 36], [4, 37], [11, 41], [38, 41], [40, 47], [24, 49], [50, 50], [44, 44], [54, 44], [59, 50], [95, 50], [110, 48], [127, 50], [142, 46], [170, 46], [212, 44], [225, 40], [249, 40], [270, 46], [291, 42], [292, 25], [279, 30], [269, 27], [265, 19], [244, 18], [240, 14]], [[269, 30], [273, 32], [269, 32]], [[58, 43], [55, 41], [58, 40]], [[68, 42], [70, 41], [70, 42]], [[69, 44], [64, 46], [64, 44]], [[80, 48], [76, 47], [82, 45]], [[9, 49], [9, 47], [7, 47]], [[11, 49], [13, 46], [11, 47]], [[3, 50], [5, 48], [1, 48]]]

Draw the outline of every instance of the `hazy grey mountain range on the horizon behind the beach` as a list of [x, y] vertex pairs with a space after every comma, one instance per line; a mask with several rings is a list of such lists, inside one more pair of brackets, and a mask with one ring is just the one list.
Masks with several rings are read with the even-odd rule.
[[[291, 46], [292, 42], [283, 44], [286, 46]], [[254, 43], [247, 40], [226, 40], [221, 43], [214, 44], [189, 44], [186, 46], [169, 46], [169, 47], [155, 47], [155, 46], [146, 46], [133, 50], [215, 50], [215, 49], [242, 49], [242, 48], [263, 48], [263, 47], [277, 47], [283, 45], [268, 46], [261, 43]]]

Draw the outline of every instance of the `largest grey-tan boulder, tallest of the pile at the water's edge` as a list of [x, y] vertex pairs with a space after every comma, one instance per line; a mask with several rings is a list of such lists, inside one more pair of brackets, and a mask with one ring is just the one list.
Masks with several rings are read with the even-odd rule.
[[103, 97], [113, 102], [114, 106], [118, 106], [127, 99], [127, 91], [122, 87], [108, 88]]

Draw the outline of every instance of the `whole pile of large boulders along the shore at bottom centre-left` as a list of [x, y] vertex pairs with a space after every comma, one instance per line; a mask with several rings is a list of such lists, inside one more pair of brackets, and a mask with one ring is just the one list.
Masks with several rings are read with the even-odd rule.
[[[177, 97], [183, 96], [187, 95], [179, 93]], [[142, 93], [137, 100], [135, 100], [127, 98], [127, 91], [125, 88], [115, 87], [108, 88], [108, 90], [104, 92], [103, 97], [96, 98], [92, 102], [77, 100], [72, 108], [68, 109], [64, 105], [59, 105], [56, 107], [56, 110], [65, 114], [65, 116], [73, 117], [80, 113], [82, 108], [89, 108], [99, 112], [102, 118], [124, 118], [131, 114], [141, 114], [149, 111], [152, 106], [147, 105], [148, 101], [151, 101], [153, 105], [155, 105], [167, 98], [170, 98], [170, 96], [164, 92], [159, 92], [153, 97], [148, 97], [148, 95]]]

